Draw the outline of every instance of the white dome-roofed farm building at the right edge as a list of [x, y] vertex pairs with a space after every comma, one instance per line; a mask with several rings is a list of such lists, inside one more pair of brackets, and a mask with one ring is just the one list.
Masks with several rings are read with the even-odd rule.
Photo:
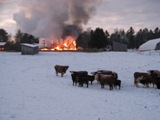
[[145, 42], [139, 47], [139, 51], [160, 50], [160, 38]]

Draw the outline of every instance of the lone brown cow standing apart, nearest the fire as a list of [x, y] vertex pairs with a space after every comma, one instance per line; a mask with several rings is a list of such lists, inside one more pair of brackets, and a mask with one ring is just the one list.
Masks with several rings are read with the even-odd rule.
[[63, 77], [63, 75], [68, 70], [69, 66], [55, 65], [54, 68], [55, 68], [55, 71], [56, 71], [56, 75], [58, 76], [58, 73], [61, 73], [61, 77]]

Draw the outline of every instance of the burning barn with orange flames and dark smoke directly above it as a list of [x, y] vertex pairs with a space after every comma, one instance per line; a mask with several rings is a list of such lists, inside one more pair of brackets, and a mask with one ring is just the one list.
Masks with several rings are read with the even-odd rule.
[[75, 51], [76, 38], [80, 30], [77, 26], [66, 25], [63, 28], [63, 33], [59, 39], [47, 40], [44, 38], [39, 39], [39, 47], [41, 51]]

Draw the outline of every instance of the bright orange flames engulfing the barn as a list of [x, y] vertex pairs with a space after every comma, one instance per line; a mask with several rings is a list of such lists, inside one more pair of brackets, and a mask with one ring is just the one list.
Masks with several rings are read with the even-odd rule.
[[51, 48], [42, 48], [41, 51], [67, 51], [67, 50], [77, 50], [75, 38], [68, 36], [65, 39], [59, 40], [56, 45]]

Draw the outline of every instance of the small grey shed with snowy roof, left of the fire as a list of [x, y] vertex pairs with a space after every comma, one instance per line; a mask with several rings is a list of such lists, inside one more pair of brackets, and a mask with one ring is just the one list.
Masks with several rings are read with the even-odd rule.
[[38, 44], [21, 44], [22, 55], [34, 55], [39, 53]]

